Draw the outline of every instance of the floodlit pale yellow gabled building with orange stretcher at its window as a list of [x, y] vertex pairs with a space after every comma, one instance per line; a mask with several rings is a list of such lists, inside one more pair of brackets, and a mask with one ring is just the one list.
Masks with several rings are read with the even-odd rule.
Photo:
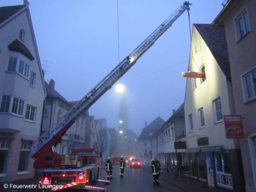
[[182, 162], [191, 178], [244, 191], [239, 140], [227, 137], [223, 117], [235, 115], [225, 28], [194, 24], [189, 60], [188, 71], [205, 77], [187, 78]]

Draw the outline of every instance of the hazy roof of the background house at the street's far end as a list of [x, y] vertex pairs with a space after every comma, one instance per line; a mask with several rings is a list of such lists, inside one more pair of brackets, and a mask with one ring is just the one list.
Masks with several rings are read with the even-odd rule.
[[164, 123], [165, 121], [161, 117], [157, 117], [153, 122], [142, 129], [142, 132], [137, 140], [151, 140], [157, 131], [161, 129]]

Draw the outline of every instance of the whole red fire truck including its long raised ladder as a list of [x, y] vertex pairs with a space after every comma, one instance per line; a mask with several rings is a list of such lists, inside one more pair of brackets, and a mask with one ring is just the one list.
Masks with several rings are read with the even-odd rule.
[[[80, 185], [83, 189], [105, 191], [106, 188], [93, 187], [98, 180], [99, 164], [96, 149], [73, 149], [71, 155], [61, 156], [55, 150], [61, 138], [73, 125], [76, 119], [89, 109], [105, 92], [121, 78], [137, 60], [172, 26], [180, 15], [186, 10], [189, 12], [189, 2], [182, 3], [169, 18], [167, 18], [153, 33], [151, 33], [134, 51], [125, 57], [110, 73], [93, 87], [67, 114], [59, 119], [44, 134], [32, 144], [31, 157], [35, 169], [44, 169], [42, 172], [42, 185], [57, 185], [66, 182], [59, 188]], [[103, 181], [105, 182], [105, 181]]]

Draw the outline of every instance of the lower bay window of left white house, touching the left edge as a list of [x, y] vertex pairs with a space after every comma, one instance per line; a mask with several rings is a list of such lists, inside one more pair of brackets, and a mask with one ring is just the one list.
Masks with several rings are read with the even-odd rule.
[[[11, 103], [11, 101], [13, 101]], [[25, 101], [12, 95], [3, 95], [0, 112], [23, 115]], [[10, 111], [11, 110], [11, 111]]]

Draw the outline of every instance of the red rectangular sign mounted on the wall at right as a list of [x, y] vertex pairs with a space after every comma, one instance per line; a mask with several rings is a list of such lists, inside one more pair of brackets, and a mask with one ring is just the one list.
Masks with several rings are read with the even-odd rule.
[[244, 138], [241, 115], [224, 115], [227, 139]]

